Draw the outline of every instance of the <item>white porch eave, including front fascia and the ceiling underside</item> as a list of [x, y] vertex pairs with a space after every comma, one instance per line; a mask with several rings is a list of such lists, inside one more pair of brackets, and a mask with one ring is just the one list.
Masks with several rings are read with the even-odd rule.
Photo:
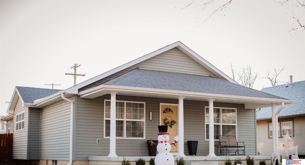
[[177, 99], [177, 97], [185, 97], [184, 100], [197, 100], [197, 101], [207, 101], [208, 99], [215, 99], [214, 102], [245, 104], [246, 109], [270, 107], [271, 104], [281, 105], [282, 102], [284, 102], [284, 104], [291, 104], [294, 102], [285, 99], [246, 97], [246, 96], [235, 96], [235, 95], [224, 95], [224, 94], [213, 94], [213, 93], [199, 93], [199, 92], [162, 90], [162, 89], [139, 88], [139, 87], [128, 87], [128, 86], [111, 86], [111, 85], [96, 86], [94, 88], [79, 92], [78, 95], [81, 98], [93, 99], [99, 96], [109, 94], [110, 92], [113, 91], [117, 92], [117, 95], [124, 95], [124, 96], [155, 97], [155, 98], [166, 98], [166, 99]]

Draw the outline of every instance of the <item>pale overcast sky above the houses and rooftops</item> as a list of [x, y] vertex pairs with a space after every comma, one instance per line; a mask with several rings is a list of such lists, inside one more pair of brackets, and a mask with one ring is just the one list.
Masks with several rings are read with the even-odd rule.
[[[67, 89], [74, 79], [65, 73], [74, 63], [81, 64], [77, 74], [86, 74], [77, 77], [81, 83], [176, 41], [230, 77], [231, 62], [250, 65], [260, 77], [285, 67], [279, 81], [305, 80], [305, 31], [289, 32], [297, 25], [292, 16], [305, 22], [303, 9], [233, 0], [209, 18], [228, 1], [204, 10], [206, 1], [191, 2], [1, 0], [0, 114], [15, 86]], [[253, 88], [268, 86], [260, 78]]]

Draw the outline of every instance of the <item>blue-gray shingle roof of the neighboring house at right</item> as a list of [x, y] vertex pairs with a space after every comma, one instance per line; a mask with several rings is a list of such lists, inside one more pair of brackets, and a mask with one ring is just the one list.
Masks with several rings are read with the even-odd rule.
[[[287, 87], [284, 84], [264, 88], [261, 91], [295, 101], [293, 104], [285, 105], [278, 114], [278, 117], [305, 115], [305, 81], [294, 82], [292, 87], [290, 87], [290, 84], [288, 84]], [[276, 107], [276, 109], [278, 109], [278, 107]], [[271, 111], [271, 107], [262, 108], [261, 111], [257, 113], [257, 120], [271, 118]]]

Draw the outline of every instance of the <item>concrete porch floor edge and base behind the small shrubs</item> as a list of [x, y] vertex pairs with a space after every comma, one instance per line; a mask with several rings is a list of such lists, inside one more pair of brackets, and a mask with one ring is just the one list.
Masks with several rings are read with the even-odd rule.
[[[139, 156], [145, 160], [147, 164], [149, 164], [149, 159], [155, 156]], [[126, 156], [126, 160], [131, 161], [133, 164], [135, 160], [139, 157], [136, 156]], [[223, 165], [226, 161], [226, 158], [229, 158], [234, 164], [234, 160], [240, 158], [243, 164], [246, 164], [247, 156], [185, 156], [183, 157], [185, 160], [185, 165]], [[266, 164], [271, 164], [271, 156], [251, 156], [255, 161], [255, 165], [259, 164], [260, 160], [265, 160]], [[179, 157], [174, 156], [174, 160], [179, 159]], [[108, 156], [88, 156], [88, 162], [92, 164], [111, 164], [111, 165], [120, 165], [123, 160], [122, 156], [118, 157], [108, 157]], [[89, 163], [89, 164], [91, 164]], [[176, 161], [175, 161], [176, 164]]]

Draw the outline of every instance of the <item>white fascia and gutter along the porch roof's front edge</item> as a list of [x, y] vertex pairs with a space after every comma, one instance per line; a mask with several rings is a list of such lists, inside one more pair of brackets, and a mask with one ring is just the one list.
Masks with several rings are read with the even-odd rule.
[[128, 87], [128, 86], [111, 86], [111, 85], [100, 85], [94, 88], [82, 91], [78, 93], [81, 98], [90, 98], [89, 95], [102, 92], [102, 91], [116, 91], [116, 92], [135, 92], [135, 93], [150, 93], [160, 96], [171, 95], [175, 97], [206, 97], [210, 99], [223, 99], [223, 100], [241, 100], [248, 102], [264, 102], [264, 103], [276, 103], [285, 104], [294, 103], [292, 100], [285, 99], [273, 99], [273, 98], [261, 98], [261, 97], [247, 97], [247, 96], [235, 96], [235, 95], [224, 95], [224, 94], [213, 94], [213, 93], [199, 93], [199, 92], [187, 92], [178, 90], [161, 90], [161, 89], [151, 89], [151, 88], [139, 88], [139, 87]]

